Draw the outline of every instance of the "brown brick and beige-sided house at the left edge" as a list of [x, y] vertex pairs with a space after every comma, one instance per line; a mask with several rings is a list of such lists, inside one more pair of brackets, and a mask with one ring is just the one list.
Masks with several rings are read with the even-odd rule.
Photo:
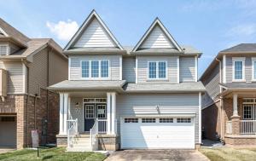
[[[68, 77], [67, 56], [50, 38], [30, 38], [0, 19], [0, 147], [55, 142], [59, 95], [51, 84]], [[58, 73], [58, 74], [56, 74]]]

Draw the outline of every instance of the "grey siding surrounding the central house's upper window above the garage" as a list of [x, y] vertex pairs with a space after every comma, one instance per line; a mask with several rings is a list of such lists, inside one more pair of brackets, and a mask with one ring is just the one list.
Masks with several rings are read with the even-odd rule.
[[[148, 61], [167, 61], [167, 80], [148, 80]], [[177, 56], [137, 56], [137, 83], [177, 83]]]

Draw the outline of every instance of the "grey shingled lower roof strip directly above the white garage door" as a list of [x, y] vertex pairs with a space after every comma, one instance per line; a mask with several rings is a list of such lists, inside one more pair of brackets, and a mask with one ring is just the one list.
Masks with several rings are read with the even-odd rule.
[[127, 83], [125, 92], [204, 92], [206, 89], [201, 82], [189, 83]]

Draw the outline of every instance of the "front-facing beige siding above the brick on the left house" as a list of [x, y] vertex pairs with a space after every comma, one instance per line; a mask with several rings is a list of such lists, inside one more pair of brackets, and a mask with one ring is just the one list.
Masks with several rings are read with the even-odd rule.
[[23, 93], [23, 74], [22, 64], [19, 61], [3, 62], [0, 61], [0, 68], [7, 70], [8, 72], [8, 84], [7, 93], [17, 94]]

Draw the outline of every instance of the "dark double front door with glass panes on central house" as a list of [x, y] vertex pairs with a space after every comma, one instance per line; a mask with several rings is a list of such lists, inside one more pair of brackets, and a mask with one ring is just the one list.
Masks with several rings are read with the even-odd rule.
[[[107, 108], [106, 104], [84, 104], [84, 131], [89, 132], [95, 123], [96, 118], [106, 119]], [[107, 128], [105, 122], [99, 122], [99, 131]]]

